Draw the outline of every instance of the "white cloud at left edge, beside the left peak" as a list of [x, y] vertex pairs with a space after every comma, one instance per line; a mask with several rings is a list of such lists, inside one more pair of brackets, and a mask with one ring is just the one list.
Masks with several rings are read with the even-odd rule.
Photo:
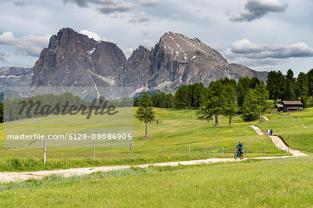
[[13, 45], [19, 53], [25, 53], [25, 55], [39, 56], [42, 49], [48, 45], [50, 36], [38, 33], [15, 37], [12, 32], [4, 32], [0, 35], [0, 44]]

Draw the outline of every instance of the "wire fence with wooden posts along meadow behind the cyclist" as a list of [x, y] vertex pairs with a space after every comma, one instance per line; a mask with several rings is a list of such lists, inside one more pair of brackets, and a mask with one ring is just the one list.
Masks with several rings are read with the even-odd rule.
[[[44, 151], [44, 161], [46, 161], [46, 157], [49, 157], [49, 149], [47, 147]], [[52, 149], [51, 149], [52, 150]], [[235, 146], [220, 146], [216, 148], [216, 146], [210, 146], [207, 144], [181, 144], [178, 146], [175, 145], [166, 145], [160, 144], [157, 146], [147, 148], [136, 148], [136, 146], [129, 144], [129, 148], [122, 149], [113, 149], [113, 148], [97, 148], [94, 146], [90, 148], [86, 152], [76, 152], [76, 153], [66, 153], [66, 156], [63, 154], [63, 158], [68, 158], [71, 154], [75, 155], [74, 157], [77, 159], [79, 155], [83, 157], [92, 157], [93, 161], [96, 159], [127, 159], [127, 158], [151, 158], [151, 157], [182, 157], [184, 159], [191, 158], [209, 158], [209, 157], [234, 157], [234, 153], [236, 152]], [[53, 151], [53, 150], [52, 150]], [[242, 149], [244, 157], [259, 157], [259, 156], [273, 156], [273, 155], [286, 155], [289, 153], [289, 148], [282, 149], [273, 146], [244, 146]], [[51, 152], [51, 158], [56, 159], [58, 156], [58, 152]]]

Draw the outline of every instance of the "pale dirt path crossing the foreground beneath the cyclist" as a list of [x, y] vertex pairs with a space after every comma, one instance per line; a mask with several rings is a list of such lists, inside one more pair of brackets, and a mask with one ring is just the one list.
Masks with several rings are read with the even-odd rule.
[[[243, 158], [246, 159], [274, 159], [274, 158], [285, 158], [291, 156], [284, 156], [284, 157], [250, 157], [250, 158]], [[241, 159], [234, 159], [234, 158], [212, 158], [212, 159], [199, 159], [199, 160], [191, 160], [191, 161], [181, 161], [181, 162], [164, 162], [164, 163], [157, 163], [157, 164], [143, 164], [138, 165], [135, 167], [145, 168], [147, 166], [178, 166], [181, 165], [192, 165], [192, 164], [212, 164], [216, 162], [238, 162]], [[37, 172], [24, 172], [24, 173], [17, 173], [17, 172], [0, 172], [0, 182], [11, 182], [11, 181], [21, 181], [21, 180], [28, 180], [28, 179], [40, 179], [47, 175], [63, 175], [64, 177], [71, 177], [72, 175], [84, 175], [90, 174], [97, 171], [115, 171], [121, 170], [125, 168], [130, 168], [131, 166], [103, 166], [103, 167], [95, 167], [95, 168], [70, 168], [66, 170], [55, 170], [55, 171], [37, 171]]]

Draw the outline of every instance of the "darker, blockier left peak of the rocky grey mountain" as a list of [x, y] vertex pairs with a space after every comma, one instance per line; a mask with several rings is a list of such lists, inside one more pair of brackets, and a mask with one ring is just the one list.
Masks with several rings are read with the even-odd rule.
[[50, 38], [35, 63], [32, 86], [110, 86], [126, 58], [111, 42], [97, 42], [71, 28]]

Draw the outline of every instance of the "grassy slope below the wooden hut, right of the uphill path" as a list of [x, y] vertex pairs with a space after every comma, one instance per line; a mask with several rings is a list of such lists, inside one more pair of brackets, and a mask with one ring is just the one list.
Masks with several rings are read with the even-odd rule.
[[271, 120], [257, 124], [273, 129], [291, 148], [313, 153], [313, 107], [290, 114], [266, 114]]

